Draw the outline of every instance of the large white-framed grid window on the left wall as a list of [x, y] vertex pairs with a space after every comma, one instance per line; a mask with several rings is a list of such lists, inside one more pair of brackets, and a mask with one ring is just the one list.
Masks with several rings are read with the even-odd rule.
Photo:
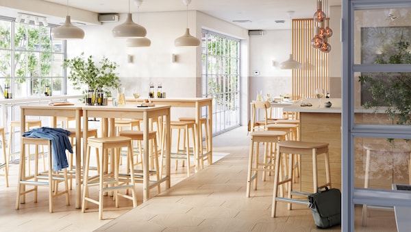
[[51, 40], [50, 32], [51, 27], [0, 19], [0, 93], [5, 98], [65, 93], [64, 43]]

